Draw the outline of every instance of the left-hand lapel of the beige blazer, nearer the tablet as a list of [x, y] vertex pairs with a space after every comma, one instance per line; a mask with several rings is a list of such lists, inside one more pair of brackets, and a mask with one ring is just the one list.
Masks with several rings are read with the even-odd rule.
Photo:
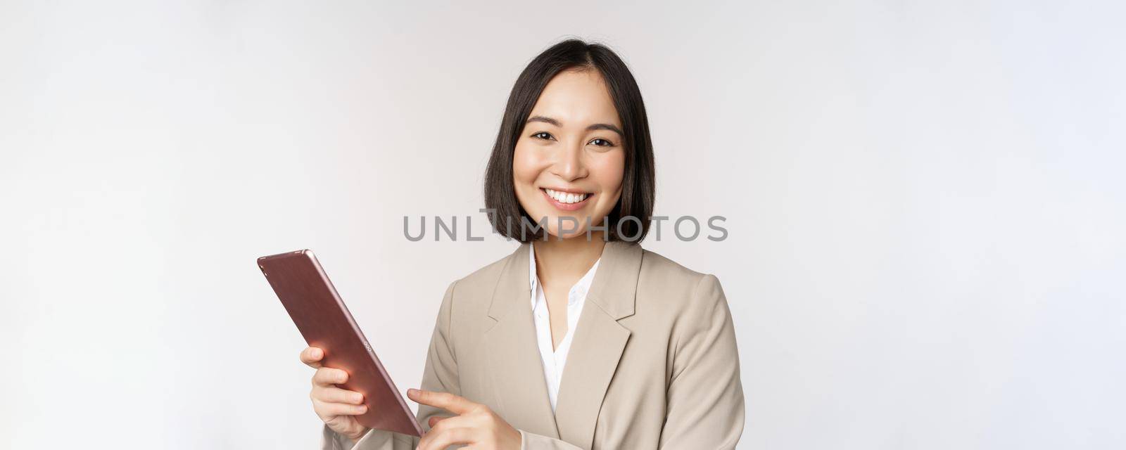
[[531, 317], [528, 245], [520, 245], [508, 258], [489, 305], [489, 316], [497, 320], [485, 332], [489, 371], [504, 420], [518, 429], [558, 439]]

